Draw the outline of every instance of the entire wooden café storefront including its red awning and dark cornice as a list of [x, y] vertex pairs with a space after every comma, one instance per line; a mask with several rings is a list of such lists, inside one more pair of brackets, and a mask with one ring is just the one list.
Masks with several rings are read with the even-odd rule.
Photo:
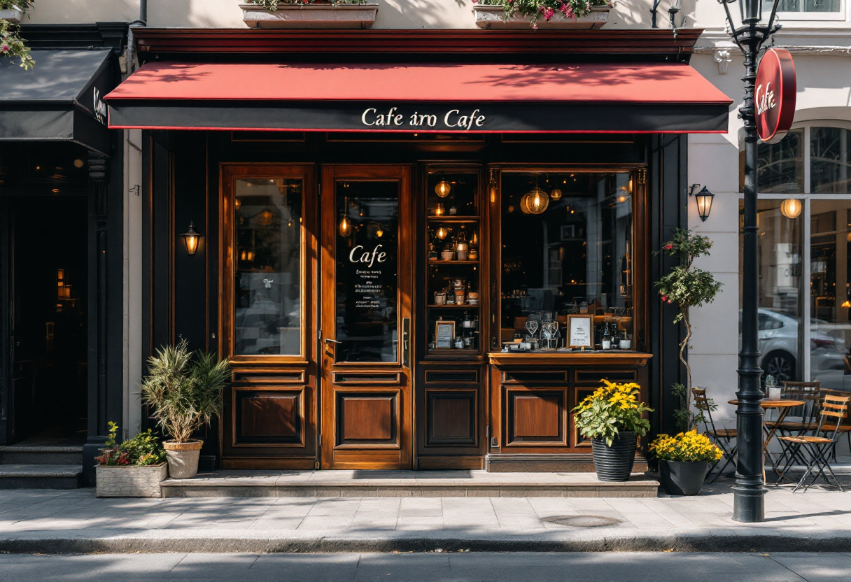
[[591, 471], [601, 379], [664, 428], [699, 35], [140, 30], [143, 344], [234, 370], [203, 464]]

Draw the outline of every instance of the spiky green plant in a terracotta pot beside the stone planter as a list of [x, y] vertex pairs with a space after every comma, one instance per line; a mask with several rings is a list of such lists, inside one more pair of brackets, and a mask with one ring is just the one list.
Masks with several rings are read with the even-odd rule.
[[192, 433], [220, 414], [221, 391], [230, 379], [226, 360], [189, 351], [186, 339], [157, 350], [148, 360], [142, 402], [152, 408], [151, 418], [163, 433], [172, 437], [163, 447], [173, 479], [197, 475], [203, 441], [193, 439]]

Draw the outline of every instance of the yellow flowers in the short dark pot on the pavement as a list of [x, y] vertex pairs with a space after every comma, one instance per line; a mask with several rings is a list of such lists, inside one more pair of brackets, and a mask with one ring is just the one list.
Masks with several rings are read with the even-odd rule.
[[706, 473], [722, 455], [721, 449], [697, 430], [656, 436], [650, 452], [659, 459], [662, 485], [671, 495], [699, 494]]

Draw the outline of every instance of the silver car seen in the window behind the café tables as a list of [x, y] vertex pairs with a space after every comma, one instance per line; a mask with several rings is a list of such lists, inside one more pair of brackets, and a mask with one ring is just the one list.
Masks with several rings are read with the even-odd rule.
[[[800, 379], [802, 369], [798, 358], [798, 320], [779, 311], [761, 308], [757, 313], [759, 351], [762, 354], [762, 370], [774, 376], [778, 382]], [[831, 323], [811, 320], [810, 370], [816, 379], [822, 374], [842, 376], [844, 359], [848, 354], [844, 334], [828, 334], [825, 328]], [[741, 338], [741, 311], [739, 311]], [[741, 344], [741, 340], [740, 340]], [[825, 384], [825, 380], [822, 380]]]

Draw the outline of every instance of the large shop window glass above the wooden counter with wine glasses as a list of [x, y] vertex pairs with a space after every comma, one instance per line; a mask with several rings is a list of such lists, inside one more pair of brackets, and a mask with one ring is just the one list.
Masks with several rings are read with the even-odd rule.
[[629, 173], [502, 175], [504, 342], [571, 315], [591, 316], [597, 349], [631, 341], [632, 195]]

